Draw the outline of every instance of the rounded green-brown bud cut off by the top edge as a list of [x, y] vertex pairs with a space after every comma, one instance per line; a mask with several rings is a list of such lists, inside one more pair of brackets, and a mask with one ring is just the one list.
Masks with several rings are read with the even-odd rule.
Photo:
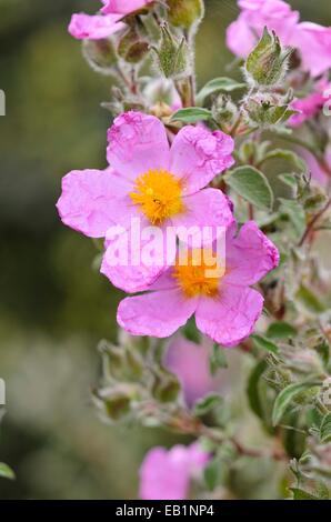
[[199, 22], [204, 13], [202, 0], [168, 0], [168, 17], [175, 27], [189, 29]]

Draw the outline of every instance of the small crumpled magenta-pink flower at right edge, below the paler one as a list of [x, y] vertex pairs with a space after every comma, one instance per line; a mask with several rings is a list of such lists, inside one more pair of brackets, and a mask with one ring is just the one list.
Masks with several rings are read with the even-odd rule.
[[328, 82], [321, 80], [317, 86], [314, 92], [305, 98], [297, 99], [291, 103], [291, 109], [294, 109], [299, 114], [290, 118], [289, 124], [291, 127], [301, 127], [307, 120], [312, 119], [323, 108], [328, 101]]

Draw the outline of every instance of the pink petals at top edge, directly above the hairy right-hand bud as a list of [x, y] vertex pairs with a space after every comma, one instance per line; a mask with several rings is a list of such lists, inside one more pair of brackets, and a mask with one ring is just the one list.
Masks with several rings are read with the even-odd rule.
[[263, 28], [275, 31], [284, 46], [292, 41], [292, 33], [299, 20], [299, 12], [282, 0], [239, 0], [239, 18], [227, 30], [227, 44], [238, 57], [245, 58]]

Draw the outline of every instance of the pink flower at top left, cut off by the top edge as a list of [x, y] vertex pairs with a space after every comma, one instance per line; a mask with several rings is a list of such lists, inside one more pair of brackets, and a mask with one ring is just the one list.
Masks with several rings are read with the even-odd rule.
[[78, 40], [100, 40], [126, 27], [121, 19], [151, 4], [153, 0], [102, 0], [100, 14], [74, 13], [69, 32]]

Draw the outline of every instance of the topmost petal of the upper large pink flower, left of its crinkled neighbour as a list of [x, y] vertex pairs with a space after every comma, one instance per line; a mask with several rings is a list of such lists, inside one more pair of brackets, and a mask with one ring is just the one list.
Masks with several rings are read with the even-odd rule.
[[169, 143], [161, 121], [141, 112], [119, 116], [108, 131], [108, 161], [134, 180], [150, 169], [169, 168]]

